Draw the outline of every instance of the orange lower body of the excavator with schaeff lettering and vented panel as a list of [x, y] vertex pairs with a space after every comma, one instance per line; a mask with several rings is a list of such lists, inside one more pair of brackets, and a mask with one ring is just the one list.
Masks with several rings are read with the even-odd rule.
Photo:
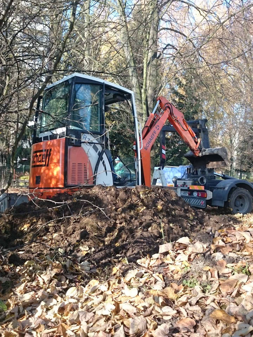
[[[77, 185], [92, 185], [93, 172], [82, 147], [68, 146], [65, 167], [65, 138], [33, 144], [29, 192], [46, 199], [59, 192], [74, 193]], [[66, 183], [64, 173], [67, 170]], [[71, 187], [73, 186], [73, 187]]]

